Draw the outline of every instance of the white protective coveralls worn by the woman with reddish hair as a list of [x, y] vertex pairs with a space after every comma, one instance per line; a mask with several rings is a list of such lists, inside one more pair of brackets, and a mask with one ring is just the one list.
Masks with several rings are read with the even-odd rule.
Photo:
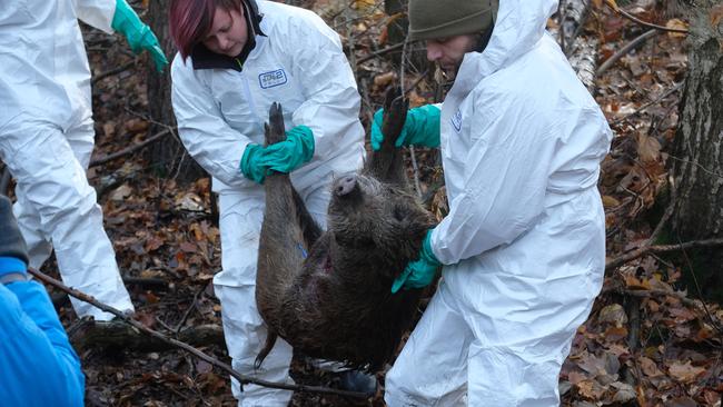
[[[264, 187], [239, 171], [248, 143], [264, 145], [264, 123], [273, 102], [281, 103], [286, 129], [311, 128], [310, 162], [291, 172], [291, 182], [324, 227], [333, 177], [357, 170], [364, 157], [360, 98], [338, 34], [315, 13], [258, 1], [263, 14], [256, 47], [242, 69], [194, 69], [199, 61], [180, 54], [171, 67], [172, 102], [180, 138], [214, 176], [219, 192], [222, 271], [214, 278], [232, 366], [270, 381], [290, 381], [291, 347], [280, 338], [254, 370], [266, 340], [256, 308], [256, 262], [264, 216]], [[248, 10], [247, 10], [248, 12]], [[191, 53], [192, 56], [192, 53]], [[242, 406], [286, 406], [291, 391], [232, 379]]]

